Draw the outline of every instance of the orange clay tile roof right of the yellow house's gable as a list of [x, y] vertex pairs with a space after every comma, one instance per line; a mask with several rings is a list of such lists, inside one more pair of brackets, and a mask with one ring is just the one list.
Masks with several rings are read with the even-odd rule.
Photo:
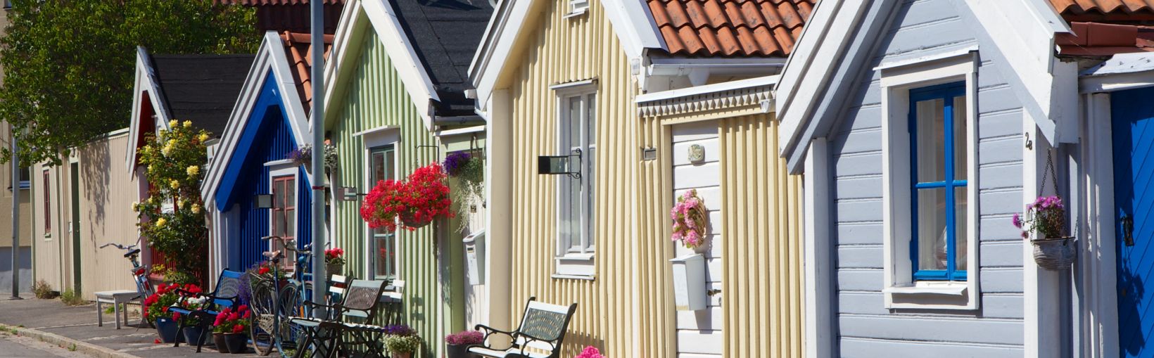
[[670, 54], [787, 57], [817, 0], [646, 1]]

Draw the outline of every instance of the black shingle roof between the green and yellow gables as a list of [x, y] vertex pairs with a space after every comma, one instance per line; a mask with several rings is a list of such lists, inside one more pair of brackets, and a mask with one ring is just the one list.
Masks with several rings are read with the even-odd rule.
[[488, 0], [392, 0], [397, 18], [433, 80], [440, 117], [473, 115], [469, 64], [493, 14]]

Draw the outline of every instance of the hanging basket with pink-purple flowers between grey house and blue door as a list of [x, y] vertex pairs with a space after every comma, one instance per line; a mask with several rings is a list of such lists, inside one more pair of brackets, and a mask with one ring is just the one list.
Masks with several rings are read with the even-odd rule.
[[1077, 252], [1074, 239], [1065, 236], [1066, 211], [1061, 196], [1039, 196], [1026, 206], [1026, 215], [1013, 215], [1013, 225], [1021, 229], [1021, 238], [1034, 245], [1034, 261], [1039, 267], [1059, 270], [1073, 263]]

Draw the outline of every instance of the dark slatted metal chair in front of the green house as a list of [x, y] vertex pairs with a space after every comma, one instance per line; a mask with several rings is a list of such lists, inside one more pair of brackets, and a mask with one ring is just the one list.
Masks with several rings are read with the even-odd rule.
[[[373, 321], [382, 291], [384, 291], [383, 281], [353, 279], [340, 292], [342, 301], [339, 304], [325, 305], [305, 301], [305, 305], [313, 309], [327, 308], [328, 316], [323, 320], [292, 319], [292, 323], [299, 325], [305, 333], [305, 340], [300, 350], [297, 351], [297, 357], [336, 357], [342, 346], [360, 345], [366, 350], [373, 350], [375, 344], [361, 340], [365, 335], [358, 334], [358, 327], [367, 325], [352, 323], [347, 320]], [[344, 337], [346, 334], [350, 335], [351, 340]]]

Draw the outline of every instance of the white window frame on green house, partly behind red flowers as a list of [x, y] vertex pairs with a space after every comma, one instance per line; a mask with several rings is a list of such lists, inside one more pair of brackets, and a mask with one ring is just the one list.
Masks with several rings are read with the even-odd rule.
[[[360, 179], [360, 181], [362, 182], [362, 185], [361, 185], [361, 188], [359, 189], [359, 192], [361, 192], [361, 194], [367, 194], [369, 191], [373, 189], [373, 186], [376, 185], [375, 182], [373, 182], [373, 180], [370, 178], [372, 173], [369, 173], [369, 170], [367, 170], [367, 167], [368, 167], [368, 165], [369, 165], [369, 163], [372, 161], [372, 155], [373, 155], [373, 149], [374, 148], [380, 148], [380, 147], [385, 147], [385, 146], [392, 146], [392, 155], [394, 155], [394, 158], [395, 158], [395, 161], [392, 162], [392, 172], [397, 173], [397, 176], [400, 177], [400, 155], [402, 155], [402, 151], [404, 150], [402, 148], [402, 146], [400, 146], [400, 127], [397, 127], [397, 126], [382, 126], [382, 127], [376, 127], [376, 128], [373, 128], [373, 129], [368, 129], [368, 130], [354, 133], [353, 136], [354, 137], [357, 137], [357, 136], [361, 137], [361, 158], [365, 161], [362, 163], [364, 163], [364, 167], [366, 167], [366, 170], [361, 171], [361, 179]], [[392, 240], [394, 240], [394, 245], [395, 245], [395, 251], [398, 253], [395, 256], [396, 259], [392, 261], [392, 266], [394, 266], [394, 270], [392, 271], [394, 271], [394, 278], [395, 279], [404, 279], [404, 277], [402, 275], [402, 271], [400, 271], [402, 261], [404, 259], [399, 254], [399, 252], [402, 251], [402, 246], [404, 245], [403, 244], [404, 240], [400, 239], [404, 236], [402, 233], [403, 231], [404, 230], [397, 230], [396, 232], [392, 233], [394, 234]], [[369, 229], [368, 224], [366, 223], [364, 225], [361, 232], [365, 233], [365, 236], [364, 236], [364, 238], [365, 238], [365, 247], [370, 248], [370, 249], [366, 249], [365, 251], [365, 271], [369, 273], [369, 275], [372, 275], [372, 276], [375, 277], [375, 275], [376, 275], [376, 255], [375, 255], [375, 252], [376, 252], [375, 248], [376, 248], [376, 246], [373, 243], [373, 229]]]

